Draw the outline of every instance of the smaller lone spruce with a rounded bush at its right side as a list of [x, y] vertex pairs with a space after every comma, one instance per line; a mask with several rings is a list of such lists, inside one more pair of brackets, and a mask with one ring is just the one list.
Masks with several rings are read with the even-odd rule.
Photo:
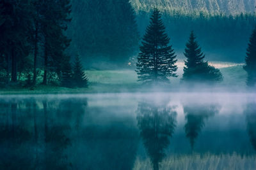
[[220, 70], [214, 68], [213, 66], [209, 66], [208, 62], [204, 61], [205, 55], [202, 53], [193, 31], [190, 34], [188, 43], [186, 44], [184, 55], [187, 60], [185, 60], [182, 80], [195, 82], [212, 82], [223, 80]]

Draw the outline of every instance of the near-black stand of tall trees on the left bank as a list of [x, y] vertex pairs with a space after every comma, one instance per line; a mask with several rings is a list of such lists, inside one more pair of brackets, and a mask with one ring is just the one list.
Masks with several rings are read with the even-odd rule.
[[[1, 84], [20, 83], [25, 86], [59, 83], [64, 87], [81, 86], [80, 60], [72, 68], [66, 49], [71, 21], [70, 0], [3, 0], [0, 1], [0, 69]], [[78, 64], [77, 64], [78, 63]], [[74, 76], [79, 74], [77, 80]]]

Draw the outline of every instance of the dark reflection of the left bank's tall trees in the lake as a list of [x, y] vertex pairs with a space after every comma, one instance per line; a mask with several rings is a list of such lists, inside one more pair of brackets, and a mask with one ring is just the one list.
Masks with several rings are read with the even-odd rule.
[[[0, 169], [68, 169], [70, 130], [86, 99], [1, 101]], [[15, 161], [13, 161], [15, 160]]]

